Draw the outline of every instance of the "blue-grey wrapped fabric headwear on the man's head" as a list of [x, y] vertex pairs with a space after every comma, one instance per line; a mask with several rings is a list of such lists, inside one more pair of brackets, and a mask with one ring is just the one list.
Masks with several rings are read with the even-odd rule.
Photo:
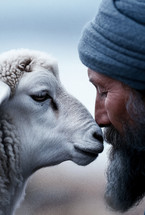
[[78, 45], [88, 68], [145, 90], [145, 0], [102, 0]]

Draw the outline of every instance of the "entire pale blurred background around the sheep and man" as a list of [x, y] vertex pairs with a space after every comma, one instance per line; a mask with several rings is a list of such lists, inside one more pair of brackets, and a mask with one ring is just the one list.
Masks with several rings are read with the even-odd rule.
[[[94, 115], [95, 88], [79, 61], [77, 44], [83, 26], [92, 19], [101, 0], [1, 0], [0, 53], [28, 48], [47, 52], [58, 60], [65, 88]], [[86, 167], [64, 162], [37, 171], [29, 180], [17, 215], [113, 215], [105, 205], [108, 150]], [[125, 213], [143, 215], [145, 201]]]

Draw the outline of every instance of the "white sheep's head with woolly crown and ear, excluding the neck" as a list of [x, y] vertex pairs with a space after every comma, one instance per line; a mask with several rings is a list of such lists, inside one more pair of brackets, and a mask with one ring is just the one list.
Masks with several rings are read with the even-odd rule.
[[86, 165], [103, 150], [100, 128], [62, 87], [55, 60], [13, 50], [0, 56], [0, 67], [1, 123], [15, 127], [23, 168], [64, 160]]

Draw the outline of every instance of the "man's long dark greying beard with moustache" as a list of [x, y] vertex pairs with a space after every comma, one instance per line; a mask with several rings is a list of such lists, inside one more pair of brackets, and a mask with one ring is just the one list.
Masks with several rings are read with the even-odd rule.
[[104, 133], [112, 145], [105, 199], [120, 212], [138, 204], [145, 195], [145, 125], [138, 130], [128, 127], [124, 126], [124, 137], [112, 126]]

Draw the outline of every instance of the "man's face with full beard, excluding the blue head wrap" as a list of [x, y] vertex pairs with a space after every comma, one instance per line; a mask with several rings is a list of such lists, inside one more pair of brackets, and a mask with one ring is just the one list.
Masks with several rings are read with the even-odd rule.
[[145, 102], [121, 82], [88, 70], [96, 87], [95, 119], [112, 145], [105, 198], [126, 211], [145, 194]]

